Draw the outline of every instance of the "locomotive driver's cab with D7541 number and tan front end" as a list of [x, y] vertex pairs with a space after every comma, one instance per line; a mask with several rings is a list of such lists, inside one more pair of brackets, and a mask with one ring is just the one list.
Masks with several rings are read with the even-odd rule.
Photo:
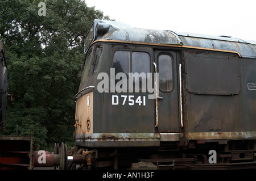
[[[144, 147], [159, 146], [161, 138], [179, 141], [179, 54], [106, 37], [123, 32], [127, 36], [130, 30], [127, 24], [96, 20], [86, 36], [84, 70], [75, 96], [80, 146]], [[104, 31], [108, 33], [101, 37]]]

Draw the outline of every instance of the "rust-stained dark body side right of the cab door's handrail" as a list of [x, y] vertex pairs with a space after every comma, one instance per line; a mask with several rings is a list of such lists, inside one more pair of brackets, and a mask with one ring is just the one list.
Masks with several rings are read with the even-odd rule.
[[[206, 62], [196, 64], [201, 54], [205, 54]], [[248, 89], [248, 84], [255, 83], [256, 61], [221, 54], [185, 52], [186, 70], [191, 69], [186, 71], [185, 80], [188, 139], [255, 139], [256, 91]], [[224, 60], [226, 56], [229, 58]], [[220, 60], [227, 63], [220, 64]], [[216, 66], [208, 66], [210, 61]], [[207, 75], [199, 76], [202, 72]], [[195, 75], [189, 82], [189, 76]]]

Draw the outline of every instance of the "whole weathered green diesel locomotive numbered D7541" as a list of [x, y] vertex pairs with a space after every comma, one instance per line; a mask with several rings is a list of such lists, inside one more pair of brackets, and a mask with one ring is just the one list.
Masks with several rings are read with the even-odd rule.
[[94, 20], [74, 100], [61, 169], [256, 167], [255, 41]]

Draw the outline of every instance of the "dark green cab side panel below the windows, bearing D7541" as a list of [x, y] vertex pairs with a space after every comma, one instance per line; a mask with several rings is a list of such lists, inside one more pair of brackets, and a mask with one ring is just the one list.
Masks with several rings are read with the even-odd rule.
[[[125, 105], [123, 96], [145, 97], [145, 106]], [[118, 105], [112, 105], [112, 96], [118, 96]], [[147, 93], [99, 93], [94, 91], [93, 132], [94, 133], [154, 133], [155, 109], [154, 99], [148, 99]], [[134, 100], [134, 101], [135, 101]]]

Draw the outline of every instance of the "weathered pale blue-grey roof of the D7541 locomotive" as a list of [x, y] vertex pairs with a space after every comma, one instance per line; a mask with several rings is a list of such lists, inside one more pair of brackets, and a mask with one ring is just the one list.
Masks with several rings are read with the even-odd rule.
[[127, 23], [98, 19], [94, 20], [90, 31], [94, 32], [91, 43], [95, 40], [113, 40], [127, 41], [129, 43], [180, 45], [186, 48], [237, 52], [241, 57], [256, 58], [256, 41], [242, 40], [229, 36], [199, 35], [170, 30], [149, 30], [134, 28]]

